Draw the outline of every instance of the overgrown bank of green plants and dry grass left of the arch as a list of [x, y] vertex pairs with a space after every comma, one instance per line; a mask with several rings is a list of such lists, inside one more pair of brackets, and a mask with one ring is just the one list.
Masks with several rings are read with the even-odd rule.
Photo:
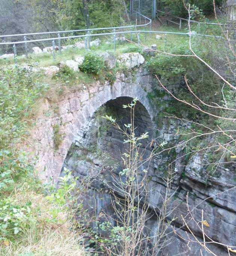
[[19, 149], [49, 85], [40, 72], [20, 67], [2, 69], [0, 76], [0, 255], [83, 255], [68, 207], [73, 177], [67, 171], [57, 189], [42, 185], [32, 157]]

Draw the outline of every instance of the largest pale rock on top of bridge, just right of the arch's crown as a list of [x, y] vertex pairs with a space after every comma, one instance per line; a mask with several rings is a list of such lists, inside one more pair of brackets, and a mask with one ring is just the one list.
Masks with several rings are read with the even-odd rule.
[[123, 53], [117, 59], [118, 62], [124, 64], [128, 69], [139, 67], [144, 63], [144, 57], [138, 52]]

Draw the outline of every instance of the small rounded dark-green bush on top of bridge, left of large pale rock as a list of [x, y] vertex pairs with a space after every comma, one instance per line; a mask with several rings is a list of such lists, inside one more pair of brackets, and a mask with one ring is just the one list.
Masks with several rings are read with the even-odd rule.
[[80, 65], [81, 71], [94, 75], [99, 75], [103, 69], [104, 60], [94, 53], [86, 54], [83, 63]]

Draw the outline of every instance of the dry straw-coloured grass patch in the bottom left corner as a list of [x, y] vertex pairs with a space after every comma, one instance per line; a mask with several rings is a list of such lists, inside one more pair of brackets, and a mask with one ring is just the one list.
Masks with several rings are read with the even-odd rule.
[[0, 244], [0, 256], [83, 256], [82, 234], [74, 229], [65, 207], [51, 204], [26, 187], [15, 190], [19, 204], [32, 202], [29, 228], [14, 242]]

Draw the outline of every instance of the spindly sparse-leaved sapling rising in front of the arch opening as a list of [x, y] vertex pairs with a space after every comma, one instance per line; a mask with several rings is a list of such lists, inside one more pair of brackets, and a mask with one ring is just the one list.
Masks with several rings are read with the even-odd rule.
[[[148, 166], [156, 152], [156, 147], [154, 146], [148, 157], [143, 158], [145, 149], [141, 149], [141, 145], [143, 140], [148, 139], [148, 133], [140, 136], [135, 134], [136, 103], [137, 99], [133, 99], [130, 104], [123, 105], [123, 108], [130, 110], [130, 123], [124, 124], [125, 130], [116, 123], [116, 119], [112, 116], [106, 115], [104, 117], [123, 134], [124, 143], [127, 145], [127, 151], [122, 155], [124, 168], [120, 171], [118, 179], [114, 180], [110, 187], [111, 190], [114, 190], [112, 195], [115, 199], [112, 201], [112, 206], [115, 210], [117, 225], [113, 226], [109, 221], [100, 224], [102, 230], [110, 233], [109, 239], [99, 239], [100, 245], [103, 246], [107, 255], [144, 255], [147, 251], [157, 255], [165, 250], [165, 246], [169, 242], [166, 231], [172, 220], [166, 222], [166, 217], [172, 212], [172, 210], [167, 209], [169, 200], [173, 195], [171, 192], [173, 178], [171, 171], [168, 171], [165, 180], [167, 187], [164, 192], [163, 204], [160, 207], [160, 212], [156, 215], [159, 231], [152, 238], [144, 232], [148, 219], [146, 197], [149, 179], [148, 169], [144, 169], [144, 165]], [[109, 184], [107, 185], [109, 186]]]

